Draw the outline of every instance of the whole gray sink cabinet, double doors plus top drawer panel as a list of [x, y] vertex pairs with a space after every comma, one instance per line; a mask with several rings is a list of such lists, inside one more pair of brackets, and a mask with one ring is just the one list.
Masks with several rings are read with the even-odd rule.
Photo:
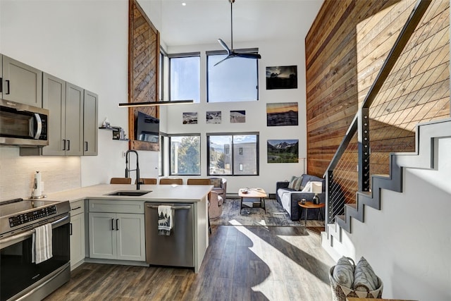
[[[89, 257], [144, 262], [143, 202], [89, 200]], [[131, 213], [130, 213], [131, 212]]]

